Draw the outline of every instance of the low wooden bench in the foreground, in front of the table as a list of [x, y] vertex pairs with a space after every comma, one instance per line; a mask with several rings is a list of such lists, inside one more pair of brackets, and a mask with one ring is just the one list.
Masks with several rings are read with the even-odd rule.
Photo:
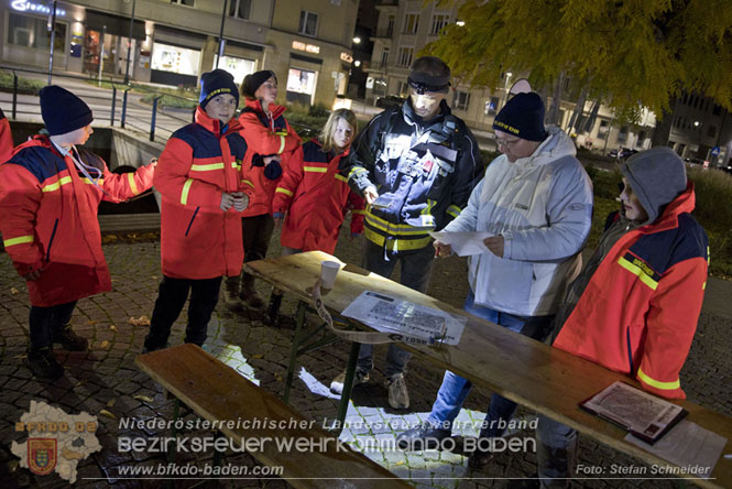
[[[313, 452], [280, 452], [276, 443], [261, 443], [261, 449], [249, 454], [270, 467], [282, 467], [282, 477], [297, 488], [353, 487], [408, 488], [406, 481], [338, 442], [305, 420], [275, 395], [250, 382], [222, 361], [195, 345], [179, 345], [141, 355], [135, 363], [198, 416], [238, 424], [260, 422], [250, 428], [229, 427], [219, 431], [233, 441], [274, 438], [313, 439], [319, 442]], [[270, 427], [267, 420], [297, 428]], [[307, 427], [303, 428], [302, 426]], [[323, 448], [321, 448], [323, 447]], [[378, 480], [376, 480], [378, 479]]]

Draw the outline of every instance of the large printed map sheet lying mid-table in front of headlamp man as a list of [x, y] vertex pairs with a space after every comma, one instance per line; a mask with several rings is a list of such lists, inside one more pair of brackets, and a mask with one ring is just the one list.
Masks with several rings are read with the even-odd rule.
[[379, 332], [424, 338], [425, 344], [460, 343], [467, 317], [364, 291], [341, 313]]

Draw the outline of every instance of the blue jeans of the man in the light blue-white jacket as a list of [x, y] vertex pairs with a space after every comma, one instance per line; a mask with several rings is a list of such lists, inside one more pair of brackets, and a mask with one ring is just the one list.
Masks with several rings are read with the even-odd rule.
[[[466, 298], [465, 309], [473, 316], [488, 319], [512, 332], [520, 333], [529, 338], [542, 340], [550, 332], [554, 316], [515, 316], [489, 307], [477, 306], [473, 303], [472, 292]], [[437, 392], [437, 399], [427, 421], [434, 425], [450, 426], [460, 413], [460, 409], [470, 393], [472, 383], [449, 370], [445, 372], [443, 385]], [[481, 438], [502, 436], [505, 425], [516, 412], [516, 403], [502, 395], [493, 394], [488, 405], [488, 413], [480, 431]]]

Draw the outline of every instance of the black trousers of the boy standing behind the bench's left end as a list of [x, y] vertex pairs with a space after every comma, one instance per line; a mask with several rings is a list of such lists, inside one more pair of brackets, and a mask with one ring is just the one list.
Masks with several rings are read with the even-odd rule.
[[165, 348], [173, 323], [181, 315], [188, 298], [188, 292], [190, 292], [190, 303], [188, 304], [188, 325], [184, 341], [198, 346], [204, 345], [208, 322], [219, 301], [220, 286], [220, 276], [205, 280], [163, 276], [153, 308], [153, 317], [150, 319], [150, 333], [145, 337], [145, 348], [148, 350]]

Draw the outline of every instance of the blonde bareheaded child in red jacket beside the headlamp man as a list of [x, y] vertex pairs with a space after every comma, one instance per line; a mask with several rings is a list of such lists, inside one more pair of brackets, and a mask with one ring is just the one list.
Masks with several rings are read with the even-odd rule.
[[[362, 232], [363, 198], [338, 173], [338, 164], [348, 156], [357, 130], [352, 111], [335, 110], [318, 139], [298, 149], [285, 169], [272, 203], [275, 226], [284, 220], [280, 238], [283, 256], [312, 250], [332, 253], [348, 210], [352, 213], [351, 236]], [[275, 289], [267, 308], [271, 324], [276, 323], [281, 303], [282, 294]]]

